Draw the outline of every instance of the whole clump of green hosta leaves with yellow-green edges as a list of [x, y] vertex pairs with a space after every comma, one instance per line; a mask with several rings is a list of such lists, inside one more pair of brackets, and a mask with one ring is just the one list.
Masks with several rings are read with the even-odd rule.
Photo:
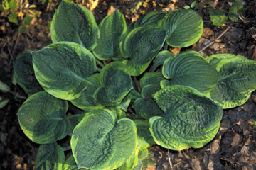
[[[256, 62], [162, 50], [193, 45], [202, 33], [201, 17], [189, 9], [154, 11], [132, 26], [114, 11], [97, 25], [91, 11], [62, 1], [53, 43], [14, 63], [28, 94], [18, 121], [41, 144], [36, 169], [142, 169], [154, 142], [181, 150], [213, 140], [223, 109], [256, 89]], [[80, 111], [67, 116], [70, 107]], [[67, 135], [65, 160], [58, 140]]]

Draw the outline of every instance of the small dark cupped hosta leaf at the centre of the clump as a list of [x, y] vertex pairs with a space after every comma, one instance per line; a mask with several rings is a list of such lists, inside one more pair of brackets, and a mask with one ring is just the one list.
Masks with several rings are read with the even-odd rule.
[[122, 62], [111, 62], [100, 72], [100, 88], [95, 98], [104, 106], [117, 106], [132, 89], [132, 79]]

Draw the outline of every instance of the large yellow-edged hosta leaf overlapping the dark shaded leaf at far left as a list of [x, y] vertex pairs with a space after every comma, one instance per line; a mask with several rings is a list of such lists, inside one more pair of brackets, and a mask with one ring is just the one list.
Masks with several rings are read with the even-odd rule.
[[64, 100], [78, 98], [90, 84], [86, 78], [97, 70], [92, 53], [74, 42], [56, 42], [32, 56], [39, 84]]

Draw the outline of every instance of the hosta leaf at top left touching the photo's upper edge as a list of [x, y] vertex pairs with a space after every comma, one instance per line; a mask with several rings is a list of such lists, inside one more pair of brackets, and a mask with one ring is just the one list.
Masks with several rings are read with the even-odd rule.
[[63, 0], [53, 16], [50, 35], [53, 42], [76, 42], [93, 50], [100, 30], [89, 9]]

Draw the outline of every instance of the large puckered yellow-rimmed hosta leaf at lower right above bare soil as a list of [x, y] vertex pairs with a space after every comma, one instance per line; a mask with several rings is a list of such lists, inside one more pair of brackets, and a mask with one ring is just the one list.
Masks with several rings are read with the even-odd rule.
[[165, 112], [149, 120], [154, 141], [173, 150], [203, 147], [218, 132], [222, 107], [189, 86], [167, 86], [153, 95]]

